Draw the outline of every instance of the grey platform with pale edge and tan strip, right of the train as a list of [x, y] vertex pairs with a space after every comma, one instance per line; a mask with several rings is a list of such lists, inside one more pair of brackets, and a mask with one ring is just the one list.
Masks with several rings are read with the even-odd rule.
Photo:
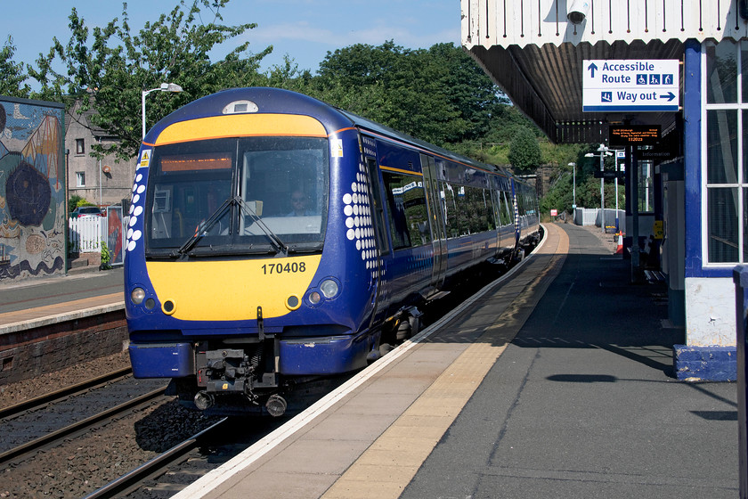
[[546, 227], [510, 279], [175, 497], [736, 496], [736, 386], [675, 380], [661, 290]]

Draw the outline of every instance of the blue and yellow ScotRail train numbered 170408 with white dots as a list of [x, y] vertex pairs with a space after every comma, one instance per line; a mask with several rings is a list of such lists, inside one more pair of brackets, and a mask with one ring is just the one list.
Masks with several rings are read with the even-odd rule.
[[289, 409], [541, 237], [533, 187], [305, 94], [207, 95], [143, 138], [126, 232], [135, 378], [207, 413]]

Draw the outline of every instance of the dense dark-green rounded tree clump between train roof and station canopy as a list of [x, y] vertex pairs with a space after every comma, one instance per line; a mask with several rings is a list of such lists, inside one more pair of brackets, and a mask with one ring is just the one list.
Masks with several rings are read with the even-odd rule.
[[490, 78], [458, 47], [410, 50], [392, 40], [328, 53], [308, 93], [431, 143], [483, 135], [501, 102]]

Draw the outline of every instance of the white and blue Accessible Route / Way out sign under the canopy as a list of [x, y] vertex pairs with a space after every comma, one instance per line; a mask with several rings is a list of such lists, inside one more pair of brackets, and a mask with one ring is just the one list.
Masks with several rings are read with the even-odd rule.
[[582, 110], [677, 111], [680, 72], [677, 59], [585, 60]]

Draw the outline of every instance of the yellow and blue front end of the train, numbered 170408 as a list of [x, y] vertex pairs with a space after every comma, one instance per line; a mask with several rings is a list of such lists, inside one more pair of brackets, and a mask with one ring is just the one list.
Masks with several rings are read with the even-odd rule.
[[[173, 378], [199, 408], [215, 396], [239, 407], [365, 365], [378, 338], [361, 327], [373, 291], [358, 269], [375, 258], [343, 229], [344, 211], [364, 207], [340, 187], [341, 170], [355, 177], [347, 158], [331, 157], [310, 116], [199, 120], [167, 125], [141, 152], [126, 254], [135, 376]], [[354, 131], [337, 136], [357, 151]], [[297, 191], [309, 206], [292, 214]]]

